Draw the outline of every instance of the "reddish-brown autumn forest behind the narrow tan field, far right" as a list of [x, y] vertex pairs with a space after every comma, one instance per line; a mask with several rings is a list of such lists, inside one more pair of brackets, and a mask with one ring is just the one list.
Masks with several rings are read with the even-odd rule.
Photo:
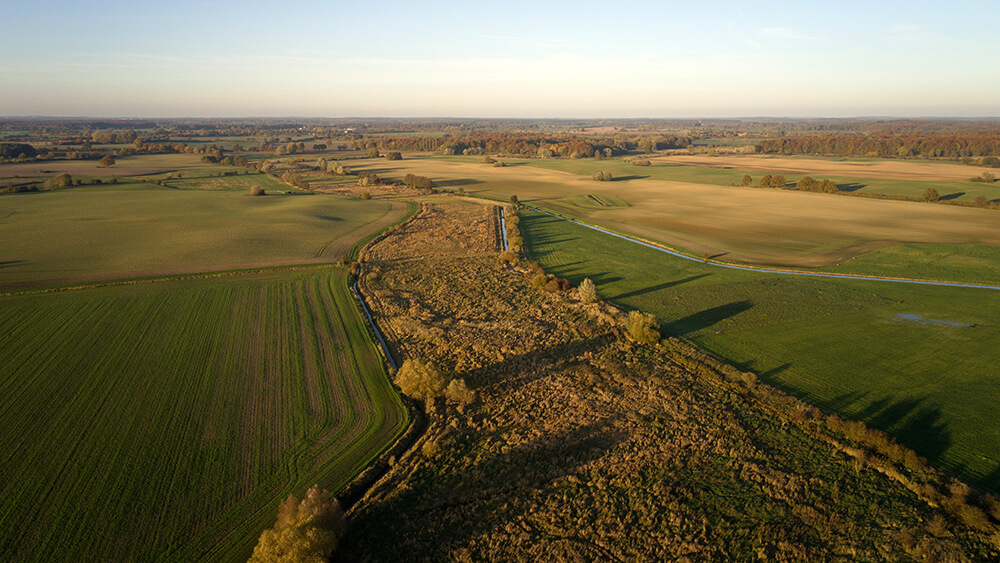
[[[892, 158], [962, 158], [1000, 155], [1000, 134], [851, 134], [802, 135], [765, 139], [756, 145], [765, 154], [825, 154]], [[1000, 162], [998, 162], [1000, 165]]]

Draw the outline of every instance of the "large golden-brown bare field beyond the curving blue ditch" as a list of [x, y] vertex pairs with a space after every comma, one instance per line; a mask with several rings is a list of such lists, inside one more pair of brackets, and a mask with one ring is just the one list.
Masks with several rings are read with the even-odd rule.
[[[748, 263], [828, 266], [907, 242], [1000, 246], [1000, 214], [983, 209], [651, 179], [595, 182], [517, 163], [494, 168], [467, 160], [361, 160], [353, 169], [388, 179], [428, 176], [445, 189], [501, 199], [517, 195], [585, 221]], [[629, 207], [583, 207], [571, 200], [587, 194], [620, 197]]]

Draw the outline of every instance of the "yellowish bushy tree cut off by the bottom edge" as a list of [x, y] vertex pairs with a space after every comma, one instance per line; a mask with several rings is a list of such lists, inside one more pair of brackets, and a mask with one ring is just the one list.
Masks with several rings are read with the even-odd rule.
[[278, 520], [260, 535], [250, 563], [326, 561], [337, 549], [344, 528], [344, 511], [337, 499], [313, 485], [302, 502], [289, 495], [278, 506]]

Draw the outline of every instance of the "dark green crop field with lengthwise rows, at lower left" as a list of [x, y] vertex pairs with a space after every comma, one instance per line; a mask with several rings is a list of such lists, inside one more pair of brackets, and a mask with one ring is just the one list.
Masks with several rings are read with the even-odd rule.
[[326, 267], [0, 298], [0, 558], [245, 560], [406, 426]]

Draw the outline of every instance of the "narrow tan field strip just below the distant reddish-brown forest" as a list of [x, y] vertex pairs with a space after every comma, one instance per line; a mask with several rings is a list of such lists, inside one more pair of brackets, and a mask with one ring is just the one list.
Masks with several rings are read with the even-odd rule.
[[[989, 168], [966, 166], [953, 162], [926, 162], [910, 160], [872, 159], [818, 159], [809, 157], [781, 157], [770, 155], [673, 155], [650, 159], [656, 164], [687, 164], [717, 168], [724, 166], [737, 170], [757, 170], [767, 174], [793, 176], [848, 176], [855, 178], [883, 178], [890, 180], [968, 180]], [[993, 171], [995, 172], [995, 170]]]

